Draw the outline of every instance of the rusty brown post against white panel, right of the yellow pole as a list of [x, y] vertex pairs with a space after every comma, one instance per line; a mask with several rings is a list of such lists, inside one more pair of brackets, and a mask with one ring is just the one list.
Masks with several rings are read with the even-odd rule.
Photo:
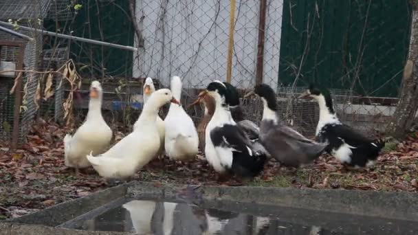
[[256, 65], [256, 85], [263, 83], [266, 10], [267, 10], [267, 0], [260, 0], [259, 44], [257, 46], [258, 51], [257, 51], [257, 65]]

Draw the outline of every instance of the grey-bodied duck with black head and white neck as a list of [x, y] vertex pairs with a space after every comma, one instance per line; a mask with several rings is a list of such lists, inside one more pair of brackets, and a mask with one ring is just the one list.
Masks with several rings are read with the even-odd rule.
[[327, 144], [307, 139], [280, 119], [276, 93], [271, 87], [265, 84], [256, 85], [254, 93], [263, 100], [261, 143], [272, 157], [286, 166], [298, 167], [311, 163], [321, 155]]

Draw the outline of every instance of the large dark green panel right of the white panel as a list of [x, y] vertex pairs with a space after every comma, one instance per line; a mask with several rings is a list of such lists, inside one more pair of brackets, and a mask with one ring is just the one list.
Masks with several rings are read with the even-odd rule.
[[[284, 0], [279, 82], [395, 97], [408, 55], [408, 0]], [[303, 62], [301, 63], [301, 60]]]

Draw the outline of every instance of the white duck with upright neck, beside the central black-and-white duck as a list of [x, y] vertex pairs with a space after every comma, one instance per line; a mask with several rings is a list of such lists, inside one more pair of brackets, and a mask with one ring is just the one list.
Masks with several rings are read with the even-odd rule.
[[[181, 97], [181, 79], [173, 76], [171, 91], [176, 100]], [[195, 124], [179, 104], [170, 104], [166, 125], [165, 150], [171, 159], [184, 161], [195, 157], [199, 151], [199, 137]]]

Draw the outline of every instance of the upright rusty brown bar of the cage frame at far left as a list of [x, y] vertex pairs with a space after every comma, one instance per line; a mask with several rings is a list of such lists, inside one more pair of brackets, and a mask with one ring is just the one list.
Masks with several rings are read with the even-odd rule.
[[[23, 43], [19, 43], [19, 57], [17, 59], [17, 70], [23, 70], [23, 56], [25, 54], [25, 46]], [[13, 113], [13, 133], [12, 133], [12, 144], [11, 150], [14, 151], [17, 149], [17, 143], [19, 142], [19, 121], [21, 115], [21, 103], [22, 103], [22, 80], [23, 76], [19, 76], [19, 73], [16, 74], [17, 84], [14, 89], [14, 113]]]

